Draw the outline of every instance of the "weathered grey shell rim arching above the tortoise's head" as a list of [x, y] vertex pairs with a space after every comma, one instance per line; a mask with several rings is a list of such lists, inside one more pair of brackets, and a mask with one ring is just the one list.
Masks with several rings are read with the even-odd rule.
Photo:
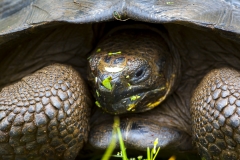
[[210, 28], [238, 40], [239, 17], [238, 0], [5, 0], [0, 2], [0, 44], [35, 27], [128, 18]]

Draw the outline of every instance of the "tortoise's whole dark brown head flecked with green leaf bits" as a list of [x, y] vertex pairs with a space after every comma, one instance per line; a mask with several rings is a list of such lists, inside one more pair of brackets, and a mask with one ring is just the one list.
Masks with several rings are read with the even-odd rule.
[[154, 108], [173, 88], [175, 59], [167, 42], [153, 31], [109, 33], [89, 59], [96, 104], [112, 114]]

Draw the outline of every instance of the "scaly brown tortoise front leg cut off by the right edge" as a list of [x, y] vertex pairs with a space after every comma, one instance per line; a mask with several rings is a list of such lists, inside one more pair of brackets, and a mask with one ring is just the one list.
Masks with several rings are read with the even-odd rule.
[[191, 99], [193, 138], [205, 159], [240, 159], [240, 72], [206, 75]]

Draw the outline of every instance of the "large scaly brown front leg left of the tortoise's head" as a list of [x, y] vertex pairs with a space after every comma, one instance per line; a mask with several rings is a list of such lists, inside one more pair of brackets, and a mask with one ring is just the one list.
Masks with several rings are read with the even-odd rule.
[[0, 92], [2, 159], [74, 159], [89, 132], [90, 99], [70, 66], [54, 64]]

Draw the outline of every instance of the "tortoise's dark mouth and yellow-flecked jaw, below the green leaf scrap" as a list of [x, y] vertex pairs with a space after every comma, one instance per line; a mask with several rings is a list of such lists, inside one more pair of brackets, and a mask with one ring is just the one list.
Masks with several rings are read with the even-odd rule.
[[[114, 81], [114, 80], [112, 80]], [[119, 81], [117, 78], [116, 81]], [[165, 97], [168, 87], [166, 84], [157, 86], [157, 89], [151, 89], [149, 86], [132, 85], [126, 86], [127, 82], [121, 81], [121, 84], [113, 87], [111, 91], [102, 86], [102, 81], [98, 81], [99, 88], [93, 88], [93, 94], [98, 106], [110, 114], [138, 113], [152, 109], [150, 104], [156, 103]], [[126, 83], [126, 85], [124, 85]]]

